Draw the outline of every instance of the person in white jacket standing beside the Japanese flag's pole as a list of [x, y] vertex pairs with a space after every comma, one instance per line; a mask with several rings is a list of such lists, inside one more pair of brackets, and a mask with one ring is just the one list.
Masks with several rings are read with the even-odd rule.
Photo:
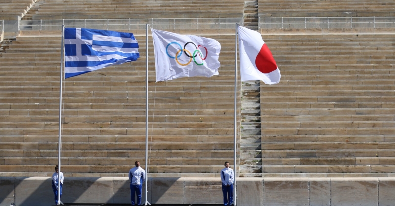
[[224, 196], [224, 205], [233, 204], [233, 180], [235, 174], [233, 169], [229, 168], [229, 162], [225, 162], [225, 168], [221, 170], [222, 194]]

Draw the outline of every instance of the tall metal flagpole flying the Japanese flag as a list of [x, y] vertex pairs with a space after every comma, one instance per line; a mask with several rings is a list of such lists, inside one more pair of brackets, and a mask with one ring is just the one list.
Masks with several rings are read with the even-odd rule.
[[233, 139], [233, 165], [234, 165], [234, 181], [233, 181], [233, 204], [236, 206], [236, 173], [237, 173], [237, 166], [236, 166], [236, 113], [237, 113], [237, 27], [238, 24], [236, 23], [236, 31], [235, 31], [235, 127], [234, 127], [234, 139]]

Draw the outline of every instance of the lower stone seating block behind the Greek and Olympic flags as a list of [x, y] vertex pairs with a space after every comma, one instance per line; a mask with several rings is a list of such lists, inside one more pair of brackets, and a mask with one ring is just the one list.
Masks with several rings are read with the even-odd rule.
[[[158, 175], [215, 176], [233, 157], [234, 37], [212, 38], [222, 43], [223, 54], [220, 75], [212, 78], [155, 83], [150, 53], [150, 171]], [[137, 39], [144, 48], [145, 37]], [[21, 36], [3, 53], [1, 172], [34, 175], [58, 162], [59, 45], [59, 36]], [[145, 164], [144, 49], [140, 55], [136, 62], [66, 79], [64, 172], [123, 176], [135, 160]]]

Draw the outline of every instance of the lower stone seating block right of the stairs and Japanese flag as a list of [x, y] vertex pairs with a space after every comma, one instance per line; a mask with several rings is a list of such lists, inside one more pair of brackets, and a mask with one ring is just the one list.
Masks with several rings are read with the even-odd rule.
[[261, 85], [263, 176], [394, 172], [393, 36], [264, 39], [283, 76]]

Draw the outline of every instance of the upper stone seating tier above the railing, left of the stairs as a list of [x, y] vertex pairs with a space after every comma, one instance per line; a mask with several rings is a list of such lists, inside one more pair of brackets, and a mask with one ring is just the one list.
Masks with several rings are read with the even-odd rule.
[[242, 0], [45, 0], [32, 19], [147, 19], [243, 17]]

